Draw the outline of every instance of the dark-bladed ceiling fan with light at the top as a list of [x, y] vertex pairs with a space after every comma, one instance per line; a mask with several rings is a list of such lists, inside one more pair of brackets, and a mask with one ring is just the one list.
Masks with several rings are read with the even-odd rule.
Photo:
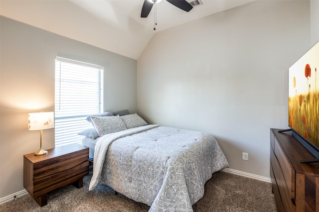
[[[144, 0], [141, 17], [147, 17], [153, 7], [153, 4], [160, 2], [161, 0]], [[178, 8], [188, 12], [193, 6], [190, 5], [186, 0], [166, 0], [169, 3], [177, 6]]]

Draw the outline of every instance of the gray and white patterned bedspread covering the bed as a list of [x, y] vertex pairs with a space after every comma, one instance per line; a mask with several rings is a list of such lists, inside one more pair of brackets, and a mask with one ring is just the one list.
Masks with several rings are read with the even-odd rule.
[[150, 212], [192, 212], [206, 181], [227, 166], [212, 135], [150, 124], [97, 141], [89, 190], [106, 184]]

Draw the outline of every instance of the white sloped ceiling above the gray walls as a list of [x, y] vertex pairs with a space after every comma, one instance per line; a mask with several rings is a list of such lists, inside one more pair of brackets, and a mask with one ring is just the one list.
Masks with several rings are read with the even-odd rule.
[[189, 12], [157, 3], [156, 30], [155, 6], [140, 17], [144, 0], [0, 0], [0, 15], [138, 59], [155, 33], [253, 0], [201, 1]]

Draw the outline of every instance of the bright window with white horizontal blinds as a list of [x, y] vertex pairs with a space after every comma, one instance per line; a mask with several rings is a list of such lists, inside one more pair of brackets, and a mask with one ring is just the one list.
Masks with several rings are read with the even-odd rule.
[[55, 61], [55, 146], [81, 142], [92, 128], [86, 117], [103, 110], [103, 71], [98, 65], [57, 57]]

